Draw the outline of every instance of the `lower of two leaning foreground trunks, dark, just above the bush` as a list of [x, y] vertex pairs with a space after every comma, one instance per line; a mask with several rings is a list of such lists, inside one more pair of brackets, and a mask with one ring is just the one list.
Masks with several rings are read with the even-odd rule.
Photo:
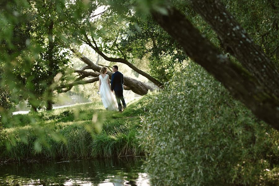
[[278, 97], [265, 84], [220, 53], [177, 9], [169, 7], [167, 14], [153, 10], [152, 15], [190, 58], [222, 82], [256, 117], [279, 130]]

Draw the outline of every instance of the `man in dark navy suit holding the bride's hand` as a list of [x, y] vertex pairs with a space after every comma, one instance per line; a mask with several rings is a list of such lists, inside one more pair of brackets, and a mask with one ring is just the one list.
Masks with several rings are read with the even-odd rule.
[[111, 91], [115, 92], [115, 97], [118, 104], [118, 110], [119, 112], [122, 112], [122, 106], [120, 103], [120, 100], [122, 101], [123, 108], [126, 108], [126, 103], [123, 97], [123, 85], [124, 85], [124, 79], [123, 74], [118, 72], [118, 66], [113, 66], [113, 75], [111, 77]]

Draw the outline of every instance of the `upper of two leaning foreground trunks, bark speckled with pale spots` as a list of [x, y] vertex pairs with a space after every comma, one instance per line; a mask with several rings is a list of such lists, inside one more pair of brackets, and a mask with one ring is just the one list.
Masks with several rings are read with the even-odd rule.
[[224, 5], [219, 0], [188, 0], [188, 2], [215, 30], [224, 49], [234, 55], [245, 69], [278, 98], [278, 69]]

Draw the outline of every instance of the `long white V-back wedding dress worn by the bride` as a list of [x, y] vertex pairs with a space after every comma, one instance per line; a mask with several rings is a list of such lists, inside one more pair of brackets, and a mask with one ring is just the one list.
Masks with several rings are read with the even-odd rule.
[[108, 110], [118, 111], [117, 102], [115, 96], [113, 95], [109, 85], [108, 85], [108, 74], [103, 78], [102, 75], [99, 75], [101, 86], [100, 86], [100, 95], [102, 102], [105, 108]]

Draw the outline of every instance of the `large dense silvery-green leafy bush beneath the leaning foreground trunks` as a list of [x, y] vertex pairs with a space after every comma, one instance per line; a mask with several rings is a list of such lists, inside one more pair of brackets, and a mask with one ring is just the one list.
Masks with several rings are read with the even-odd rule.
[[148, 96], [139, 137], [152, 184], [278, 184], [278, 131], [200, 66], [189, 62]]

